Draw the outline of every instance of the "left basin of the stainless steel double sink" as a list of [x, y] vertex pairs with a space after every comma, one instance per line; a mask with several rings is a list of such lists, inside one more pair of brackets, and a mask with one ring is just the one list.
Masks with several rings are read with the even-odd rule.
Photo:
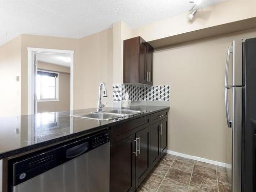
[[72, 115], [73, 117], [80, 117], [80, 118], [87, 118], [87, 119], [96, 119], [96, 120], [112, 120], [119, 117], [122, 117], [124, 115], [121, 114], [114, 114], [114, 113], [106, 113], [106, 112], [94, 112], [90, 114], [77, 114]]

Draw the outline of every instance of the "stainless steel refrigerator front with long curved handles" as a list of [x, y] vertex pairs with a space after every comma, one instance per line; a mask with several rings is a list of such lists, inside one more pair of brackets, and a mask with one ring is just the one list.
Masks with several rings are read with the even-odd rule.
[[[243, 114], [243, 42], [234, 40], [228, 48], [225, 74], [225, 107], [227, 126], [227, 153], [232, 154], [232, 192], [241, 192], [242, 180], [242, 114]], [[229, 94], [228, 94], [229, 93]], [[229, 109], [229, 107], [231, 108]], [[232, 140], [232, 141], [231, 141]], [[230, 157], [230, 156], [229, 156]], [[227, 162], [230, 162], [229, 158]]]

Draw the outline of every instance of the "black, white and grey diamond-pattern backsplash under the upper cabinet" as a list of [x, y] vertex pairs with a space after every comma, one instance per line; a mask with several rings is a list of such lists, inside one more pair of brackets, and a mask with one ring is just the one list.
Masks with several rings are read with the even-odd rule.
[[113, 101], [121, 102], [125, 94], [132, 101], [169, 101], [170, 86], [134, 86], [131, 84], [113, 84]]

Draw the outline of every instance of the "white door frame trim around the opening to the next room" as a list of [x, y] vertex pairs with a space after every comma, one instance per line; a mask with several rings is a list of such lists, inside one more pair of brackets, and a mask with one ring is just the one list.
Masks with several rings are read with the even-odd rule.
[[28, 114], [35, 112], [35, 65], [34, 59], [37, 53], [69, 54], [70, 61], [70, 111], [74, 110], [74, 51], [60, 49], [44, 49], [28, 47]]

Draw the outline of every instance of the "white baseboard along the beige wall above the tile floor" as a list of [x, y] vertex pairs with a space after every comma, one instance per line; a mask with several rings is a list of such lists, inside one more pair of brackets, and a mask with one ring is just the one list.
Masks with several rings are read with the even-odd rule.
[[167, 154], [176, 155], [176, 156], [180, 156], [180, 157], [184, 157], [184, 158], [188, 158], [188, 159], [202, 161], [202, 162], [205, 162], [205, 163], [210, 163], [210, 164], [214, 164], [214, 165], [218, 165], [218, 166], [222, 166], [222, 167], [231, 168], [230, 164], [219, 162], [219, 161], [213, 161], [213, 160], [205, 159], [205, 158], [202, 158], [202, 157], [187, 155], [187, 154], [178, 153], [178, 152], [174, 152], [174, 151], [170, 151], [170, 150], [167, 150], [166, 153]]

